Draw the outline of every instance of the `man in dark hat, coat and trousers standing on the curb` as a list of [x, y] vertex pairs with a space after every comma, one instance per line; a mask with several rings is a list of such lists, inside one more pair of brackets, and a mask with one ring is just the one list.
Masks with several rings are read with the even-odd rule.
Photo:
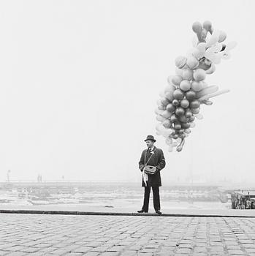
[[[152, 135], [148, 135], [145, 140], [148, 149], [142, 151], [142, 156], [139, 162], [139, 169], [143, 172], [142, 175], [142, 187], [145, 188], [142, 210], [137, 211], [139, 213], [148, 212], [151, 187], [153, 190], [153, 206], [156, 214], [161, 214], [160, 211], [160, 198], [159, 187], [161, 187], [160, 171], [165, 167], [166, 162], [164, 159], [163, 151], [160, 148], [156, 148], [154, 143], [156, 140]], [[156, 167], [156, 173], [145, 174], [145, 165], [151, 165]]]

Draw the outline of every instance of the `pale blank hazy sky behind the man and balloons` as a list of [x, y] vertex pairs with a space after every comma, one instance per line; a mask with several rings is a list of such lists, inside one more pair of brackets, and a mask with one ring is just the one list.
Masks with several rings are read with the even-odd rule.
[[202, 106], [181, 153], [156, 136], [167, 181], [252, 181], [254, 1], [1, 1], [0, 180], [140, 181], [144, 139], [194, 21], [237, 41], [206, 81], [229, 94]]

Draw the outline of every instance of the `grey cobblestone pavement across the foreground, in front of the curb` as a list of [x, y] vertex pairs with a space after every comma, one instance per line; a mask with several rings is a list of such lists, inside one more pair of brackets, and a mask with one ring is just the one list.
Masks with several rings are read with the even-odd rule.
[[255, 218], [0, 214], [0, 255], [255, 255]]

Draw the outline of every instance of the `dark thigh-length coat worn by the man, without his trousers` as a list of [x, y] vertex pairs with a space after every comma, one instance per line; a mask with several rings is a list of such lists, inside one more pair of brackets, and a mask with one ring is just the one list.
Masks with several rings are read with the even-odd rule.
[[[160, 171], [165, 167], [166, 161], [164, 159], [164, 153], [160, 148], [153, 148], [153, 156], [151, 157], [151, 152], [149, 149], [142, 151], [142, 156], [139, 161], [139, 169], [142, 172], [145, 163], [151, 157], [147, 165], [156, 166], [156, 173], [153, 175], [148, 174], [148, 187], [161, 187], [161, 176]], [[142, 177], [142, 187], [145, 187], [145, 182]]]

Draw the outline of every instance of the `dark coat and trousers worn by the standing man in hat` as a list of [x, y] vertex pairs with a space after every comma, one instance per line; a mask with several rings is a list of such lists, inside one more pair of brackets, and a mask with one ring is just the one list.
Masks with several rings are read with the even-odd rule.
[[161, 187], [161, 176], [160, 171], [165, 167], [166, 162], [164, 159], [163, 151], [160, 148], [153, 148], [153, 155], [151, 157], [151, 151], [149, 149], [145, 149], [142, 151], [142, 156], [139, 162], [139, 168], [142, 172], [143, 167], [145, 167], [145, 163], [151, 157], [147, 165], [156, 166], [156, 173], [153, 175], [148, 175], [147, 186], [145, 186], [145, 181], [142, 177], [142, 187], [145, 187], [145, 194], [143, 200], [142, 209], [144, 211], [148, 211], [149, 207], [149, 200], [150, 200], [150, 193], [151, 187], [153, 189], [153, 206], [155, 211], [160, 210], [160, 198], [159, 198], [159, 187]]

